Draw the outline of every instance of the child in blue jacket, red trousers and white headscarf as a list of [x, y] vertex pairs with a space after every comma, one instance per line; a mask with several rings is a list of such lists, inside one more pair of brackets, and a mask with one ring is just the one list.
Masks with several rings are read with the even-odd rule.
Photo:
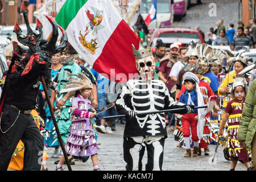
[[[203, 106], [204, 100], [199, 89], [199, 78], [192, 72], [187, 72], [184, 74], [184, 85], [185, 92], [181, 94], [179, 102], [187, 105]], [[192, 141], [195, 143], [193, 147], [193, 157], [196, 157], [199, 152], [199, 137], [197, 126], [199, 118], [204, 114], [204, 109], [194, 109], [192, 113], [184, 114], [181, 118], [182, 133], [184, 137], [184, 143], [186, 148], [186, 153], [184, 157], [191, 157], [190, 149], [190, 135], [192, 134]], [[190, 130], [191, 129], [191, 130]], [[201, 134], [200, 134], [201, 135]]]

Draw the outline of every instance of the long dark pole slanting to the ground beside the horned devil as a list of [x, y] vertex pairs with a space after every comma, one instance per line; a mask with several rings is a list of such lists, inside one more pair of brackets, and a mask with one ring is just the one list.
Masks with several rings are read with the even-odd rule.
[[64, 155], [65, 161], [67, 163], [68, 170], [72, 171], [72, 168], [71, 168], [69, 160], [68, 160], [68, 155], [67, 155], [67, 152], [66, 152], [65, 147], [64, 147], [63, 140], [61, 139], [59, 127], [57, 125], [55, 115], [54, 115], [54, 112], [53, 112], [53, 109], [52, 109], [51, 101], [50, 101], [49, 94], [48, 94], [48, 89], [46, 87], [46, 81], [44, 80], [43, 76], [40, 76], [40, 78], [41, 78], [41, 82], [42, 82], [42, 85], [43, 85], [43, 88], [44, 88], [44, 93], [46, 94], [46, 100], [47, 100], [47, 103], [48, 103], [48, 106], [49, 106], [49, 111], [51, 112], [51, 115], [52, 115], [52, 121], [53, 121], [53, 124], [54, 124], [55, 129], [56, 129], [57, 138], [60, 141], [60, 146], [61, 146], [61, 149], [63, 151], [63, 155]]

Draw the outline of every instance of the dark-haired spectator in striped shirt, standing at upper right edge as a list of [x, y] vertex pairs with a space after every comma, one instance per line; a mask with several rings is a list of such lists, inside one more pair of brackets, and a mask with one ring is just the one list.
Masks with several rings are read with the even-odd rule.
[[253, 42], [251, 41], [250, 36], [245, 35], [243, 32], [243, 27], [238, 27], [238, 35], [234, 37], [231, 50], [232, 51], [239, 51], [243, 48], [243, 46], [249, 46], [250, 48], [253, 48]]

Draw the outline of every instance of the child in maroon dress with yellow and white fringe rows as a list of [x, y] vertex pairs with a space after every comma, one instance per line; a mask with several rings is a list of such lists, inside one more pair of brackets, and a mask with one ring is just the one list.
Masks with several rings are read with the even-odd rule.
[[242, 118], [242, 108], [245, 103], [246, 92], [247, 86], [243, 78], [235, 78], [231, 91], [233, 100], [229, 101], [226, 105], [225, 114], [218, 130], [218, 135], [223, 135], [223, 128], [226, 121], [228, 121], [228, 150], [230, 159], [232, 160], [230, 171], [234, 171], [238, 160], [242, 160], [247, 170], [251, 170], [248, 151], [242, 148], [241, 143], [237, 140], [237, 129], [240, 126], [240, 119]]

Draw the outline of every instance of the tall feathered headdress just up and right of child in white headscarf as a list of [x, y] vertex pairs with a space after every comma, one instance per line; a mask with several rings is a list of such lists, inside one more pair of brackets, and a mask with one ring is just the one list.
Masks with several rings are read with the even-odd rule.
[[199, 44], [197, 46], [198, 58], [200, 64], [209, 65], [212, 64], [213, 48], [209, 44]]

